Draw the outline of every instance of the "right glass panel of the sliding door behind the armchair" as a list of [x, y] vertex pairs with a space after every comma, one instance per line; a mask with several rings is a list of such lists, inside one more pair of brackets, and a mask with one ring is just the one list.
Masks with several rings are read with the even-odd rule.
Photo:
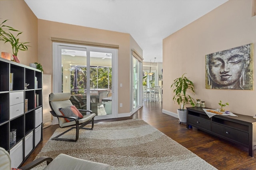
[[90, 51], [90, 98], [96, 115], [112, 114], [112, 53]]

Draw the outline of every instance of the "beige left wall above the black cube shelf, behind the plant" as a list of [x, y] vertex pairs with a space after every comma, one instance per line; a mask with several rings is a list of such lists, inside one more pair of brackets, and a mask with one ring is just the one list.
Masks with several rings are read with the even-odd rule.
[[[13, 27], [23, 33], [18, 36], [20, 42], [30, 42], [28, 51], [19, 51], [18, 59], [21, 64], [29, 65], [29, 63], [37, 62], [38, 57], [38, 19], [34, 13], [28, 8], [23, 0], [0, 0], [0, 23], [8, 20], [4, 25]], [[12, 32], [17, 35], [15, 32]], [[12, 46], [9, 43], [4, 44], [0, 41], [0, 52], [8, 52], [12, 54]]]

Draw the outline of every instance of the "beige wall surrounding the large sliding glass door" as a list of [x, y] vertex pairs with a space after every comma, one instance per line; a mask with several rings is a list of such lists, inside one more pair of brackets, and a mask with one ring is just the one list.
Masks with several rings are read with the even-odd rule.
[[[130, 113], [130, 62], [131, 49], [136, 48], [142, 51], [139, 46], [131, 46], [131, 36], [128, 33], [120, 33], [82, 27], [53, 21], [38, 20], [38, 61], [44, 67], [46, 74], [52, 74], [52, 41], [51, 37], [73, 39], [80, 41], [90, 41], [96, 43], [106, 43], [119, 45], [118, 49], [118, 113]], [[132, 43], [134, 44], [134, 43]], [[142, 55], [142, 54], [141, 54]], [[129, 64], [128, 64], [129, 63]], [[119, 87], [122, 83], [123, 86]]]

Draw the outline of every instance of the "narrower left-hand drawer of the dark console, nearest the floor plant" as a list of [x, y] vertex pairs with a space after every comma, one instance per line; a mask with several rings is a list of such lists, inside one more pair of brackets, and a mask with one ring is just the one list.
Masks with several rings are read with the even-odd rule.
[[195, 127], [200, 127], [202, 129], [206, 129], [208, 131], [211, 130], [211, 122], [205, 119], [200, 119], [195, 116], [188, 115], [187, 123], [190, 125], [194, 125]]

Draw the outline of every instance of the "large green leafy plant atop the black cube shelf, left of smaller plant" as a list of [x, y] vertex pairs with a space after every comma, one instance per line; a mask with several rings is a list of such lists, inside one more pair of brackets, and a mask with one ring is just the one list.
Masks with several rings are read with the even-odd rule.
[[12, 53], [13, 55], [17, 56], [18, 51], [27, 51], [28, 47], [30, 47], [28, 44], [29, 42], [20, 42], [20, 39], [18, 38], [18, 35], [20, 35], [22, 32], [18, 33], [16, 36], [14, 36], [10, 32], [2, 32], [2, 38], [1, 40], [4, 41], [4, 43], [10, 43], [12, 45]]

